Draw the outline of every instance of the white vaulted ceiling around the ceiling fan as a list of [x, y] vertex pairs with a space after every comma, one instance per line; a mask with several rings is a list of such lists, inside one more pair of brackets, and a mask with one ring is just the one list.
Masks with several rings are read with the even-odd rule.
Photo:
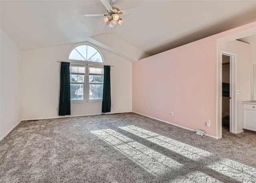
[[[104, 28], [100, 0], [1, 0], [1, 28], [22, 50], [83, 42], [112, 35], [154, 55], [256, 21], [255, 0], [116, 0], [115, 6], [138, 11], [124, 15], [122, 26]], [[101, 36], [101, 38], [104, 36]], [[97, 40], [97, 42], [101, 42]]]

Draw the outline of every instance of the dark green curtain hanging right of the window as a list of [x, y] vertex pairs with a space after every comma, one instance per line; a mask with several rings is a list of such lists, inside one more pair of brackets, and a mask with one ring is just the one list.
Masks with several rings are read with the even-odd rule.
[[104, 66], [104, 83], [103, 83], [103, 98], [102, 112], [110, 112], [111, 96], [110, 96], [110, 66]]

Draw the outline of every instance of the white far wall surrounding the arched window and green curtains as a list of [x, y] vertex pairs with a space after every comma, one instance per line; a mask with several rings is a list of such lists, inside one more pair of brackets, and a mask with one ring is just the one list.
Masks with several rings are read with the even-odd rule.
[[[72, 62], [68, 54], [78, 44], [81, 43], [22, 52], [22, 119], [58, 117], [60, 63], [57, 61]], [[110, 68], [111, 113], [132, 111], [132, 63], [95, 47], [102, 53], [104, 64], [114, 66]], [[102, 102], [72, 102], [71, 116], [100, 114], [101, 107]]]

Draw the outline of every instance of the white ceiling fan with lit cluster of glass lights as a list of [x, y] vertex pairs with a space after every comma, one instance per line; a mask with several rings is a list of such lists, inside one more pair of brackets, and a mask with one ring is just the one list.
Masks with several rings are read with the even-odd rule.
[[[105, 16], [103, 18], [103, 20], [106, 23], [106, 25], [109, 23], [108, 26], [110, 28], [113, 28], [114, 26], [116, 26], [117, 23], [122, 25], [123, 20], [120, 16], [125, 15], [125, 14], [130, 14], [138, 8], [136, 6], [136, 7], [133, 7], [133, 8], [128, 8], [126, 10], [120, 10], [119, 8], [114, 7], [114, 4], [115, 4], [116, 0], [110, 0], [110, 2], [108, 2], [107, 0], [100, 0], [100, 1], [102, 2], [102, 4], [107, 9], [106, 14], [84, 14], [84, 16]], [[110, 4], [112, 4], [112, 6]], [[105, 25], [105, 27], [106, 27], [106, 25]]]

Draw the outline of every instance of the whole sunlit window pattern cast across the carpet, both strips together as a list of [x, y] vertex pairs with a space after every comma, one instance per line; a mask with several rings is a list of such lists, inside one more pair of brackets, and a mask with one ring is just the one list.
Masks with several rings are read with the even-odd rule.
[[[255, 182], [256, 169], [186, 143], [159, 135], [146, 129], [128, 125], [120, 129], [156, 146], [144, 145], [114, 129], [92, 131], [126, 155], [145, 171], [162, 180], [175, 182]], [[166, 151], [161, 153], [156, 147]], [[175, 155], [175, 158], [174, 158]], [[178, 157], [178, 158], [177, 158]]]

